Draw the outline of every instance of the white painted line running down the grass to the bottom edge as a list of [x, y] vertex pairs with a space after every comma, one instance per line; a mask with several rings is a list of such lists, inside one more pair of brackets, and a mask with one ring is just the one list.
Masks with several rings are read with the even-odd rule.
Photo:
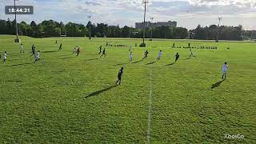
[[153, 83], [152, 83], [152, 68], [150, 68], [150, 97], [149, 97], [149, 101], [150, 101], [150, 105], [149, 105], [149, 114], [148, 114], [148, 119], [147, 119], [147, 134], [146, 134], [146, 138], [147, 138], [147, 143], [150, 143], [150, 125], [151, 125], [151, 113], [152, 113], [152, 101], [153, 101], [153, 96], [152, 96], [152, 92], [153, 92]]

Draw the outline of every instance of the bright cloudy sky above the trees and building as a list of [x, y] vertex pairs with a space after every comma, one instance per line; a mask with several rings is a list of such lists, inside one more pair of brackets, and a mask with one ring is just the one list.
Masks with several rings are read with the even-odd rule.
[[[200, 24], [210, 26], [242, 25], [246, 30], [256, 29], [256, 0], [148, 0], [146, 20], [154, 22], [176, 21], [178, 26], [191, 30]], [[57, 22], [86, 24], [91, 15], [94, 23], [135, 26], [143, 21], [142, 0], [18, 0], [19, 6], [34, 6], [33, 15], [18, 15], [18, 22]], [[0, 0], [0, 19], [14, 19], [5, 14], [5, 6], [14, 5], [13, 0]]]

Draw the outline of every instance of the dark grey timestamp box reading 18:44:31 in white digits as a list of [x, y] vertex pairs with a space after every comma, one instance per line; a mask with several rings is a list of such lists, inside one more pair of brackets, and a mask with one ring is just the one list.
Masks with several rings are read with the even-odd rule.
[[6, 14], [34, 14], [34, 6], [6, 6]]

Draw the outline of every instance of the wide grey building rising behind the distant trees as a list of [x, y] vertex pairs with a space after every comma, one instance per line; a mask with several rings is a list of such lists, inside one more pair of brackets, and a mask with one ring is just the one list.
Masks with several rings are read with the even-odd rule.
[[[144, 22], [136, 22], [135, 28], [142, 29], [144, 26]], [[177, 27], [177, 22], [145, 22], [145, 27], [159, 27], [159, 26], [175, 26]]]

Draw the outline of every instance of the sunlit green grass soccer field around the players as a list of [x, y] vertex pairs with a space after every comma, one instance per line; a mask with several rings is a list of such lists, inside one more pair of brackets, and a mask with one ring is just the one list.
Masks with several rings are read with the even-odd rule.
[[[22, 37], [19, 54], [14, 38], [0, 36], [1, 55], [7, 51], [0, 62], [0, 142], [256, 142], [255, 42], [155, 40], [135, 48], [141, 39]], [[134, 62], [129, 47], [106, 42], [133, 46]], [[170, 48], [174, 42], [218, 49], [192, 49], [197, 57], [189, 58], [190, 49]], [[37, 63], [33, 44], [41, 51]], [[106, 58], [99, 58], [101, 45]], [[78, 57], [74, 46], [81, 47]], [[145, 50], [149, 57], [140, 62]], [[122, 66], [122, 85], [115, 86]]]

